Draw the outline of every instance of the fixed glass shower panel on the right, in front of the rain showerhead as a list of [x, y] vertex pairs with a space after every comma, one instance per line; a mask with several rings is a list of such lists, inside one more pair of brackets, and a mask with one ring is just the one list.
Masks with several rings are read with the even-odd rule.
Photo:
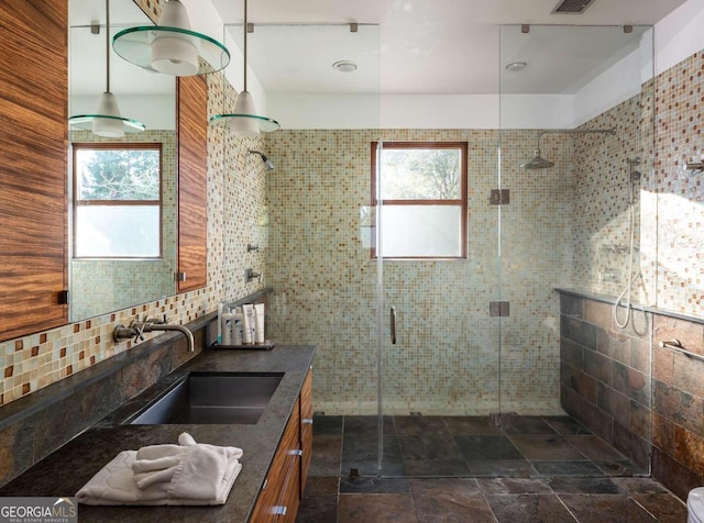
[[[505, 25], [499, 67], [501, 181], [510, 193], [501, 211], [501, 300], [509, 303], [501, 411], [548, 424], [565, 412], [587, 426], [610, 420], [613, 431], [588, 429], [622, 452], [645, 448], [645, 316], [620, 329], [612, 304], [622, 291], [638, 302], [644, 283], [652, 30]], [[571, 308], [561, 310], [556, 289], [575, 297]]]

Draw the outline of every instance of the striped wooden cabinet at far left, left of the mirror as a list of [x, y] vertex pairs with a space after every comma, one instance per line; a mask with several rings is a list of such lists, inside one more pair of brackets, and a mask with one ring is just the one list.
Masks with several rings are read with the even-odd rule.
[[0, 341], [68, 321], [68, 2], [0, 2]]

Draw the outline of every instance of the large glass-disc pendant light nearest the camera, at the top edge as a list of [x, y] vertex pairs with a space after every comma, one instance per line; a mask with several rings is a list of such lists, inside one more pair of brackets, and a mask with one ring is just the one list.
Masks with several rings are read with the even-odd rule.
[[188, 12], [179, 0], [164, 4], [157, 25], [120, 31], [112, 47], [132, 64], [173, 76], [207, 75], [230, 63], [224, 45], [190, 30]]

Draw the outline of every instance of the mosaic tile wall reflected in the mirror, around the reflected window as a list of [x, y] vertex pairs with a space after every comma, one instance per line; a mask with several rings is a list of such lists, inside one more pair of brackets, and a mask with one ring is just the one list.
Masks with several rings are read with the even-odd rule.
[[[72, 143], [111, 142], [88, 131], [69, 133]], [[151, 131], [121, 140], [125, 143], [161, 143], [162, 145], [162, 234], [164, 253], [161, 260], [85, 260], [70, 263], [72, 320], [92, 318], [134, 303], [146, 303], [174, 293], [176, 271], [176, 132]], [[138, 283], [138, 285], [135, 285]]]

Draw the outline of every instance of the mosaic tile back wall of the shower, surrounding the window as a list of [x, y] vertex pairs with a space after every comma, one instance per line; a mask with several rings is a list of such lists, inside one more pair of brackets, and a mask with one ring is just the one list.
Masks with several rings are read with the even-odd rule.
[[[532, 152], [532, 131], [501, 135], [502, 183], [512, 190], [510, 205], [501, 209], [488, 203], [497, 187], [496, 131], [283, 131], [267, 137], [277, 163], [267, 190], [270, 327], [275, 338], [319, 344], [316, 409], [376, 410], [377, 268], [360, 236], [361, 210], [370, 202], [370, 142], [377, 138], [469, 143], [468, 259], [384, 266], [382, 314], [386, 320], [387, 308], [397, 308], [399, 336], [395, 346], [385, 342], [385, 410], [487, 413], [498, 410], [501, 387], [504, 411], [561, 412], [552, 288], [570, 283], [556, 275], [569, 278], [571, 224], [554, 219], [571, 201], [569, 148], [556, 154], [558, 168], [526, 177], [518, 166]], [[499, 299], [510, 300], [512, 315], [490, 319], [490, 301]]]

